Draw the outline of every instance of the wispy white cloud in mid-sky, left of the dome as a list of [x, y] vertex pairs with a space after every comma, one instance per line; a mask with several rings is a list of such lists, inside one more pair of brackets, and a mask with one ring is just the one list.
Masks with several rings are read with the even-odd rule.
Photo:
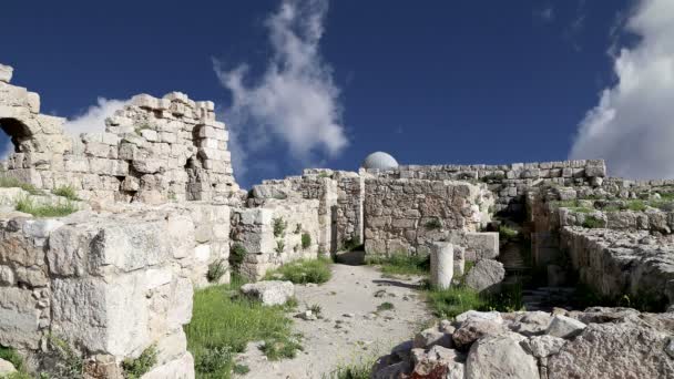
[[256, 80], [248, 78], [247, 64], [227, 69], [214, 61], [232, 93], [226, 119], [238, 175], [245, 170], [241, 157], [276, 141], [302, 164], [335, 157], [348, 145], [339, 89], [319, 53], [327, 10], [327, 0], [284, 0], [265, 22], [272, 57]]

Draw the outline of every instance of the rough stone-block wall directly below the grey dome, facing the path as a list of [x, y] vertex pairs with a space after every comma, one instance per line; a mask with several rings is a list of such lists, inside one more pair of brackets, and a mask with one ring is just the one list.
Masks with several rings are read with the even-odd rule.
[[455, 181], [365, 181], [367, 254], [428, 253], [449, 232], [477, 232], [489, 222], [491, 193]]

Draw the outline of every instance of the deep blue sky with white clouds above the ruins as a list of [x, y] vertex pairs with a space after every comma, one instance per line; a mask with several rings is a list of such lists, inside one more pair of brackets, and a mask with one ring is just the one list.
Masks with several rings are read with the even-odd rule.
[[[651, 13], [662, 14], [672, 10], [667, 2], [12, 1], [0, 14], [0, 62], [14, 66], [14, 84], [41, 94], [43, 112], [69, 119], [98, 98], [143, 92], [215, 101], [235, 135], [244, 186], [305, 166], [357, 170], [379, 150], [405, 164], [606, 153], [610, 165], [627, 167], [617, 174], [640, 176], [673, 156], [654, 155], [639, 168], [622, 157], [633, 130], [602, 136], [611, 143], [601, 148], [593, 139], [622, 127], [599, 115], [634, 113], [616, 99], [627, 76], [614, 64], [646, 70], [653, 54], [672, 57], [666, 42], [642, 51], [641, 61], [616, 53], [636, 57], [644, 41], [661, 38], [662, 21], [645, 8], [654, 3]], [[667, 98], [674, 80], [665, 84]], [[604, 107], [603, 91], [616, 92]], [[593, 109], [599, 115], [586, 117]], [[662, 119], [627, 123], [657, 124], [644, 127], [658, 140], [674, 131]], [[574, 145], [579, 127], [588, 137]]]

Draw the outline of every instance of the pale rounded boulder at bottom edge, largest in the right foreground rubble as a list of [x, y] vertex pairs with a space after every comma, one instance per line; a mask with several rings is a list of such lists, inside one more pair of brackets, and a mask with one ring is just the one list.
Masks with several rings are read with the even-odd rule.
[[520, 346], [514, 332], [487, 336], [470, 348], [466, 379], [539, 379], [537, 360]]

